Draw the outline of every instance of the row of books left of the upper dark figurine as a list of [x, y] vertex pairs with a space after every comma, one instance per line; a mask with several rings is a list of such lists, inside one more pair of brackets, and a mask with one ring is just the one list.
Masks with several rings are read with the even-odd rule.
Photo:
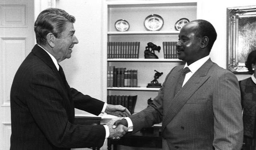
[[109, 41], [107, 42], [107, 58], [139, 58], [138, 41]]

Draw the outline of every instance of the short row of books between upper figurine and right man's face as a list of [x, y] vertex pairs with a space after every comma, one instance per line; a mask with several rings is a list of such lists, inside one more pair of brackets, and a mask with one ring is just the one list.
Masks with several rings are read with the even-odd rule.
[[165, 59], [175, 59], [177, 57], [176, 41], [163, 41], [163, 57]]

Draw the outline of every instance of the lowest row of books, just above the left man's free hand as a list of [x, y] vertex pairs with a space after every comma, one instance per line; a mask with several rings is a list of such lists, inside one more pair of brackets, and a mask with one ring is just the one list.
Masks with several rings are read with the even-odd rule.
[[126, 107], [131, 114], [134, 113], [136, 101], [137, 101], [137, 95], [135, 95], [135, 96], [108, 95], [107, 96], [108, 104], [122, 105], [123, 107]]

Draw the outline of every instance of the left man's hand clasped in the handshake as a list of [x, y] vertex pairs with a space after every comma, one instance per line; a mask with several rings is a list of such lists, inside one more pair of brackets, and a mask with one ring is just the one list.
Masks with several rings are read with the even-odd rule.
[[113, 128], [114, 122], [120, 119], [122, 118], [114, 118], [107, 122], [107, 126], [109, 127], [109, 138], [119, 140], [121, 137], [123, 137], [123, 135], [126, 134], [126, 132], [128, 132], [128, 128], [123, 124], [117, 125], [115, 128]]

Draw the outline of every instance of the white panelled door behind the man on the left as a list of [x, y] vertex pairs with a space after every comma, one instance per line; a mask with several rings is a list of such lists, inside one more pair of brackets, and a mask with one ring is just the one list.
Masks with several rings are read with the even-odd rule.
[[0, 150], [10, 149], [10, 88], [34, 46], [34, 0], [0, 0]]

